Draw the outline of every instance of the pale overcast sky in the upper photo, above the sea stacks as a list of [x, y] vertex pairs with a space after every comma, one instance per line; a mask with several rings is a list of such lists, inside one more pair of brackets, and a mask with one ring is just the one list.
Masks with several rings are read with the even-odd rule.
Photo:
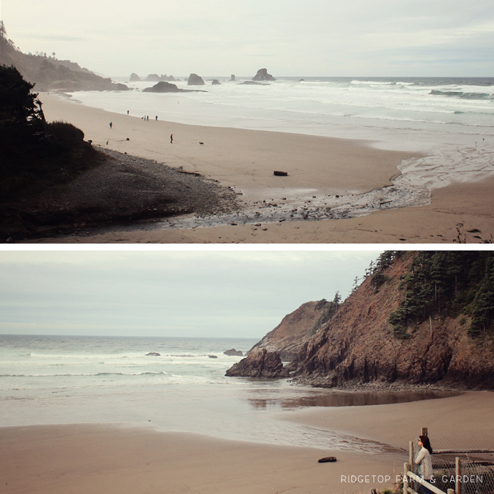
[[493, 76], [492, 0], [1, 0], [22, 51], [110, 76]]

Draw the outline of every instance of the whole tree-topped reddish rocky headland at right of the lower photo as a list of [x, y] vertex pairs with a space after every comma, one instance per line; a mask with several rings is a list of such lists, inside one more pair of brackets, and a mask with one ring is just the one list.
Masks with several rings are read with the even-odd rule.
[[308, 303], [255, 351], [290, 356], [299, 338], [285, 370], [311, 386], [492, 390], [493, 289], [493, 252], [385, 252], [312, 336]]

